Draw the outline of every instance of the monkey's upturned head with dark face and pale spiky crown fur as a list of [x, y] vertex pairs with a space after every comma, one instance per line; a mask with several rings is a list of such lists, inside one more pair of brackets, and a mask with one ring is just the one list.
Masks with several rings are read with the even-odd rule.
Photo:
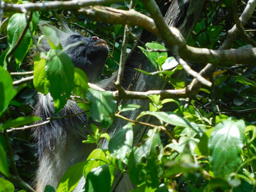
[[[94, 36], [84, 37], [67, 25], [62, 25], [62, 30], [51, 26], [60, 37], [62, 47], [81, 42], [76, 46], [71, 46], [66, 50], [66, 54], [71, 58], [75, 67], [82, 69], [89, 82], [94, 82], [102, 73], [103, 67], [108, 57], [108, 46], [106, 41]], [[41, 40], [41, 47], [45, 51], [50, 50], [50, 45], [46, 38]]]

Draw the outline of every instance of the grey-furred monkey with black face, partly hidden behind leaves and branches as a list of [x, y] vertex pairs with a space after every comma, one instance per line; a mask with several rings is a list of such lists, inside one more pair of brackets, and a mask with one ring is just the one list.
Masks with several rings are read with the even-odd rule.
[[[105, 90], [113, 90], [112, 81], [116, 78], [116, 74], [108, 80], [97, 81], [108, 57], [109, 48], [106, 41], [97, 36], [84, 37], [67, 26], [63, 28], [64, 30], [55, 28], [63, 48], [75, 42], [82, 42], [66, 50], [74, 66], [85, 72], [89, 82], [96, 83]], [[50, 50], [47, 40], [42, 40], [41, 46], [45, 51]], [[126, 60], [122, 83], [125, 89], [135, 74], [134, 68], [140, 62], [138, 60], [134, 62], [134, 60], [137, 59], [132, 57]], [[34, 116], [42, 117], [42, 122], [54, 116], [55, 108], [50, 94], [38, 93], [36, 100]], [[82, 112], [82, 109], [76, 102], [68, 100], [56, 116], [79, 112]], [[86, 160], [90, 152], [96, 148], [94, 144], [82, 143], [82, 140], [85, 140], [90, 133], [92, 131], [86, 114], [54, 120], [49, 124], [34, 128], [33, 136], [37, 143], [39, 160], [35, 187], [37, 192], [43, 192], [46, 185], [51, 185], [56, 189], [63, 174], [70, 166]]]

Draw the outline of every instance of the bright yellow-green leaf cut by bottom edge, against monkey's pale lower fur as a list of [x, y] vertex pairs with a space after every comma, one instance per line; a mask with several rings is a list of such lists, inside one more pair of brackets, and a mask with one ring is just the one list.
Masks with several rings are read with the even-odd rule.
[[56, 192], [72, 192], [83, 176], [84, 168], [87, 164], [88, 161], [83, 161], [68, 168], [64, 176], [62, 176]]

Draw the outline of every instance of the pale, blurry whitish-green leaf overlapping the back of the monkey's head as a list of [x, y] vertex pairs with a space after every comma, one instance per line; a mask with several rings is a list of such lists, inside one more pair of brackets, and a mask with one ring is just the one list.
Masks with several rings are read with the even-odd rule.
[[58, 36], [56, 30], [47, 25], [41, 26], [40, 30], [46, 36], [48, 43], [50, 44], [52, 49], [62, 49], [62, 45], [60, 44], [60, 37]]

